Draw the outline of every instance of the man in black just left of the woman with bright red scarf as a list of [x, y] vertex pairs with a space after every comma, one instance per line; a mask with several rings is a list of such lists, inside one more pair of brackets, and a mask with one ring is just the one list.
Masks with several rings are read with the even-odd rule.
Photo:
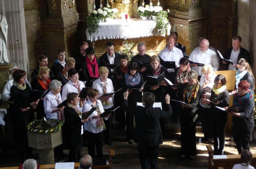
[[80, 51], [76, 53], [74, 56], [72, 56], [76, 61], [75, 68], [78, 71], [79, 80], [81, 80], [80, 78], [82, 77], [82, 66], [83, 66], [83, 63], [86, 62], [86, 49], [88, 47], [89, 47], [88, 42], [82, 42], [80, 44]]

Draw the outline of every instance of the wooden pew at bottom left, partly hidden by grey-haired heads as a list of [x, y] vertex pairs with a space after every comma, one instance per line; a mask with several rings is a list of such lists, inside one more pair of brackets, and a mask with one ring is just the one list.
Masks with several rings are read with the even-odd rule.
[[[108, 159], [108, 164], [105, 166], [92, 166], [92, 169], [111, 169], [112, 166], [112, 159], [113, 156], [115, 156], [115, 151], [114, 150], [109, 150], [109, 159]], [[78, 169], [80, 166], [79, 163], [75, 163], [75, 169]], [[0, 167], [0, 169], [18, 169], [19, 167]], [[55, 164], [44, 164], [40, 165], [39, 169], [54, 169]]]

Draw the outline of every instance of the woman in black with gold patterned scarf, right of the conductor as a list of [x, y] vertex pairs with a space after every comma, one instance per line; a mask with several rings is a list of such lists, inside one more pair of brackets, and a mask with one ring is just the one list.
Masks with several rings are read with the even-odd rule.
[[194, 160], [196, 155], [196, 113], [197, 104], [202, 95], [202, 87], [197, 80], [197, 72], [192, 70], [188, 73], [188, 83], [178, 91], [181, 104], [180, 126], [181, 126], [181, 158], [189, 157]]

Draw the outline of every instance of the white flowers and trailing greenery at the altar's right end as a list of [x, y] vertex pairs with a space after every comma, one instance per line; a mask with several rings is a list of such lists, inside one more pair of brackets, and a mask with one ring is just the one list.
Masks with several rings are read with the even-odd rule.
[[169, 9], [166, 11], [162, 10], [157, 13], [156, 16], [156, 27], [157, 27], [157, 32], [161, 35], [166, 34], [166, 31], [168, 30], [168, 24], [169, 24], [169, 19], [168, 19], [168, 13], [170, 12]]

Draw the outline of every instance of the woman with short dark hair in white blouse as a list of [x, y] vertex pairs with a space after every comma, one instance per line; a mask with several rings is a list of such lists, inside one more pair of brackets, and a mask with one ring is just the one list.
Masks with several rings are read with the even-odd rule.
[[[85, 87], [84, 83], [79, 80], [78, 71], [76, 71], [75, 68], [71, 68], [68, 70], [68, 83], [66, 83], [63, 86], [62, 89], [62, 100], [65, 101], [67, 99], [67, 94], [74, 92], [80, 94], [82, 89]], [[81, 102], [80, 102], [81, 103]], [[83, 105], [80, 104], [80, 108], [82, 108]]]

